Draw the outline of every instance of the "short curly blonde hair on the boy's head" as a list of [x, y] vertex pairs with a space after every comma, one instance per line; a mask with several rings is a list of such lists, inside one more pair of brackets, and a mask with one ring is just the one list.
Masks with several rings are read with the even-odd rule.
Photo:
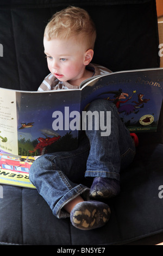
[[95, 24], [87, 11], [79, 7], [67, 7], [55, 13], [47, 24], [44, 33], [47, 40], [68, 39], [74, 35], [82, 35], [82, 37], [80, 36], [81, 44], [85, 42], [86, 50], [94, 48]]

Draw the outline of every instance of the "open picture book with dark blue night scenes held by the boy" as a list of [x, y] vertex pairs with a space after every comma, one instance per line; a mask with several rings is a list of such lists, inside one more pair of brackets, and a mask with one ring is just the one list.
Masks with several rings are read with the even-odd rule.
[[[162, 88], [162, 68], [92, 77], [80, 84], [80, 89], [26, 92], [0, 88], [0, 154], [17, 156], [21, 166], [22, 156], [34, 159], [52, 151], [77, 148], [80, 132], [86, 129], [86, 108], [96, 99], [115, 103], [131, 133], [156, 131]], [[90, 113], [91, 121], [93, 114]], [[104, 128], [102, 136], [109, 136], [108, 127]], [[0, 183], [4, 182], [2, 177], [16, 177], [18, 168], [9, 167], [5, 169], [9, 174], [4, 175], [1, 161], [0, 165]], [[14, 164], [7, 161], [7, 165]], [[28, 175], [28, 171], [24, 173]]]

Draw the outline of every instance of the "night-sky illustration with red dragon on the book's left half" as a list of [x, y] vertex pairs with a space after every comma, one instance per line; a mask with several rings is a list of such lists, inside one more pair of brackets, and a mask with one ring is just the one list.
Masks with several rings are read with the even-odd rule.
[[[17, 155], [37, 156], [77, 147], [71, 113], [79, 109], [79, 91], [16, 92]], [[16, 153], [15, 153], [16, 154]]]

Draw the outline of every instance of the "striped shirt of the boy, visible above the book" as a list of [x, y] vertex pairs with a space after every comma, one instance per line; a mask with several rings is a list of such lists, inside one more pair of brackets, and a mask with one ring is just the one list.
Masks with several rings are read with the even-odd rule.
[[[104, 75], [111, 73], [109, 69], [104, 68], [104, 66], [92, 64], [86, 66], [87, 70], [93, 71], [92, 76]], [[38, 91], [43, 92], [45, 90], [61, 90], [61, 89], [79, 89], [79, 86], [72, 86], [72, 84], [59, 81], [52, 73], [45, 77], [41, 83]]]

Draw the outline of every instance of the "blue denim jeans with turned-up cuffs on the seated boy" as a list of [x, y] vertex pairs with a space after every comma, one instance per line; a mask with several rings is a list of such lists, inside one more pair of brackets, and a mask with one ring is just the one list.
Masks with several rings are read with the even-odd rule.
[[77, 149], [42, 155], [29, 171], [30, 181], [58, 218], [70, 216], [64, 205], [72, 199], [80, 194], [88, 198], [90, 178], [101, 176], [120, 180], [120, 170], [134, 159], [133, 139], [116, 106], [106, 100], [95, 100], [87, 111], [111, 112], [110, 135], [101, 136], [101, 130], [93, 126], [80, 138]]

